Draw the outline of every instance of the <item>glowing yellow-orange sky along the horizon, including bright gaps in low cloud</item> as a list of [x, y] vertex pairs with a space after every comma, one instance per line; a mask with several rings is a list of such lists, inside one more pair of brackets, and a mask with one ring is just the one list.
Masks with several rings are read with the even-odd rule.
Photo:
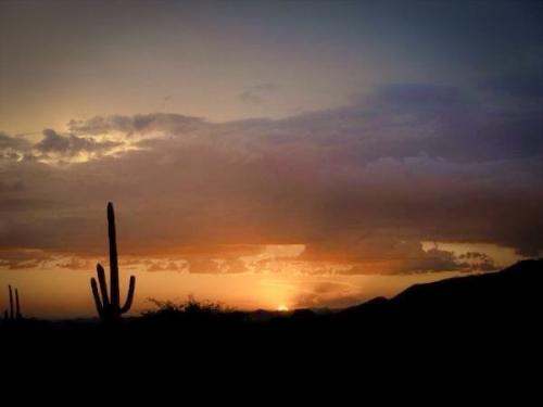
[[[426, 250], [434, 243], [424, 242]], [[488, 253], [496, 259], [496, 267], [505, 267], [521, 258], [513, 250], [495, 245], [466, 243], [438, 243], [442, 250], [454, 250], [457, 255], [468, 252]], [[307, 267], [300, 268], [295, 258], [303, 245], [268, 245], [261, 254], [245, 256], [244, 260], [268, 260], [266, 269], [251, 267], [245, 272], [190, 272], [189, 268], [167, 270], [169, 257], [141, 258], [122, 257], [122, 297], [130, 275], [137, 278], [135, 304], [130, 315], [139, 315], [154, 307], [150, 298], [182, 303], [193, 296], [198, 301], [219, 303], [242, 310], [257, 308], [289, 309], [300, 307], [344, 307], [368, 301], [375, 296], [391, 297], [415, 283], [431, 282], [464, 272], [441, 271], [403, 275], [339, 275], [331, 272], [311, 274]], [[242, 256], [243, 257], [243, 256]], [[288, 267], [289, 259], [293, 262]], [[70, 263], [66, 263], [68, 262]], [[8, 284], [20, 290], [25, 316], [39, 318], [76, 318], [94, 316], [90, 292], [90, 278], [96, 277], [96, 259], [63, 257], [62, 267], [42, 263], [21, 269], [0, 266], [0, 308], [8, 305]], [[103, 260], [103, 259], [102, 259]], [[102, 262], [101, 260], [101, 262]], [[147, 268], [146, 268], [147, 260]], [[78, 263], [80, 262], [80, 263]], [[182, 265], [184, 260], [176, 259]], [[72, 264], [72, 266], [71, 266]], [[108, 262], [103, 262], [104, 266]], [[251, 263], [247, 263], [251, 265]], [[155, 266], [155, 271], [149, 271]], [[24, 266], [24, 265], [23, 265]], [[109, 268], [106, 276], [109, 279]]]

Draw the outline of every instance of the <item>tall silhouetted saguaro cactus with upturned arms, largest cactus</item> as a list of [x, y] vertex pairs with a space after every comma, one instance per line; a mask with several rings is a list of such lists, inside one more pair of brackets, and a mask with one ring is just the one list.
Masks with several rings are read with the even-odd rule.
[[100, 283], [100, 292], [98, 291], [97, 280], [90, 279], [92, 295], [98, 315], [103, 321], [112, 322], [121, 320], [123, 314], [128, 313], [132, 305], [134, 292], [136, 290], [136, 277], [130, 276], [130, 284], [128, 287], [128, 296], [125, 305], [121, 306], [121, 293], [118, 288], [118, 262], [117, 262], [117, 240], [115, 236], [115, 213], [113, 204], [108, 204], [108, 236], [110, 240], [110, 288], [111, 292], [108, 295], [108, 283], [105, 282], [105, 272], [100, 264], [97, 264], [98, 282]]

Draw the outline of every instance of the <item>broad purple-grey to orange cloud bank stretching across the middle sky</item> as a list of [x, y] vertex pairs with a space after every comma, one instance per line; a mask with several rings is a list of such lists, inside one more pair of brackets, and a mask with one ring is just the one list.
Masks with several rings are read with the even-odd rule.
[[[296, 262], [342, 264], [344, 274], [493, 267], [490, 258], [424, 251], [420, 241], [485, 242], [536, 255], [540, 107], [496, 107], [481, 94], [405, 84], [280, 120], [73, 120], [70, 135], [47, 130], [34, 150], [101, 151], [92, 137], [109, 132], [138, 140], [141, 150], [66, 168], [4, 161], [3, 182], [27, 188], [0, 191], [11, 214], [0, 222], [0, 244], [102, 252], [103, 206], [114, 201], [125, 253], [199, 247], [187, 257], [190, 272], [244, 271], [232, 249], [244, 244], [305, 244]], [[23, 204], [36, 206], [33, 221]]]

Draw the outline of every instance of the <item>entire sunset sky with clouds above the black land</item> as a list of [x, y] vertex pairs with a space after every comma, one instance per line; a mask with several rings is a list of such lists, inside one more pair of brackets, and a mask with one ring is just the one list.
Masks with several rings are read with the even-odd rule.
[[541, 256], [542, 39], [539, 1], [2, 0], [0, 308], [93, 315], [110, 201], [135, 314]]

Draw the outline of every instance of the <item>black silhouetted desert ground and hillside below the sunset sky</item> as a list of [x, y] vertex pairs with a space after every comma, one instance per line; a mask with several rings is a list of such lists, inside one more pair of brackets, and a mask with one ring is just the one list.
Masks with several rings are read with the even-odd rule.
[[[77, 389], [78, 402], [89, 390], [169, 398], [190, 391], [229, 404], [258, 389], [250, 402], [260, 405], [276, 393], [315, 397], [330, 389], [334, 397], [358, 393], [358, 400], [375, 386], [384, 386], [381, 398], [404, 397], [399, 385], [417, 397], [440, 386], [447, 399], [468, 390], [488, 397], [519, 389], [512, 387], [516, 382], [517, 404], [531, 391], [540, 394], [542, 289], [543, 260], [526, 260], [333, 313], [163, 304], [117, 327], [89, 320], [4, 323], [0, 391], [18, 397], [16, 383], [33, 383], [26, 389], [45, 386], [39, 394], [55, 399]], [[348, 403], [334, 398], [332, 405]]]

